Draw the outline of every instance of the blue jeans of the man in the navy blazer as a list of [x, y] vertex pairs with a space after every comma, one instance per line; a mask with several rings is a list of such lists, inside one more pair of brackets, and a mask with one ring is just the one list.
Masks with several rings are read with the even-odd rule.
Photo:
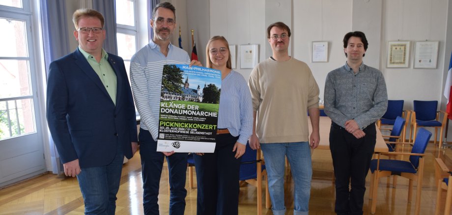
[[122, 144], [117, 144], [116, 156], [110, 164], [82, 168], [77, 175], [86, 215], [114, 215], [123, 161]]

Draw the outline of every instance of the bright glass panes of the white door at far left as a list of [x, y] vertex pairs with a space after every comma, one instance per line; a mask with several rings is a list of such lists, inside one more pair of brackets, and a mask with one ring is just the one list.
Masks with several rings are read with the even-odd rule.
[[[21, 0], [3, 0], [0, 13], [0, 140], [36, 132], [29, 16]], [[19, 11], [19, 13], [15, 12]]]

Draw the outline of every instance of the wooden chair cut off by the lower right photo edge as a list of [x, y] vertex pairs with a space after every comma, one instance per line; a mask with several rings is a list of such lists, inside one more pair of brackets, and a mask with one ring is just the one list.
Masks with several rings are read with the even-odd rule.
[[440, 214], [443, 190], [447, 190], [444, 214], [449, 215], [451, 214], [452, 205], [452, 184], [449, 183], [452, 181], [452, 172], [446, 164], [444, 164], [443, 160], [435, 158], [435, 161], [435, 179], [437, 182], [435, 215]]

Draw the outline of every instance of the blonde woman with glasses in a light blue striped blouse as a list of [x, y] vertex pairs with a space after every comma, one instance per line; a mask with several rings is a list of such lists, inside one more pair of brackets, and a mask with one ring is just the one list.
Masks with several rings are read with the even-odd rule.
[[195, 155], [197, 214], [237, 215], [240, 161], [253, 128], [251, 93], [243, 76], [232, 70], [225, 37], [212, 37], [206, 56], [207, 67], [220, 70], [222, 81], [215, 151]]

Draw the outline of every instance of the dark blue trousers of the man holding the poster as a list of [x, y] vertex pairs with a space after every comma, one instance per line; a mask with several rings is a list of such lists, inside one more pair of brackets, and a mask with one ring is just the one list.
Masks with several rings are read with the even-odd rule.
[[[145, 215], [159, 215], [158, 195], [160, 175], [165, 155], [157, 152], [157, 141], [147, 130], [140, 129], [140, 156], [143, 177], [143, 209]], [[185, 179], [187, 153], [167, 157], [169, 167], [169, 214], [183, 215], [185, 211]]]

